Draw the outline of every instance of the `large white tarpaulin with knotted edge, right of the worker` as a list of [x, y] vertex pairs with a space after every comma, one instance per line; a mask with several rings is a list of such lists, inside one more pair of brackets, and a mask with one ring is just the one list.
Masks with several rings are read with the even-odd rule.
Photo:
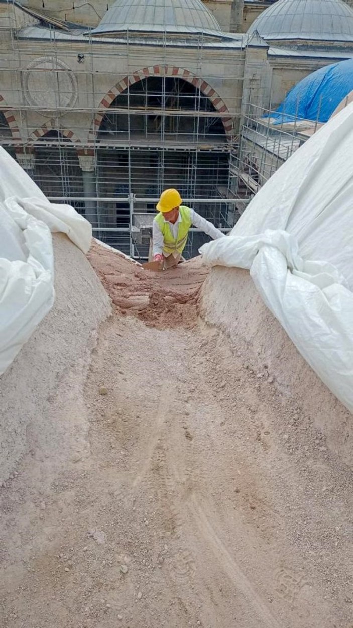
[[250, 270], [301, 355], [353, 411], [353, 104], [259, 190], [210, 266]]

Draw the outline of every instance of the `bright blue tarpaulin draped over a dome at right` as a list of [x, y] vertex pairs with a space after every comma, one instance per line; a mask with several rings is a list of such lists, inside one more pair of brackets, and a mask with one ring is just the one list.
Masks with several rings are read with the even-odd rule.
[[274, 124], [295, 118], [327, 122], [340, 102], [353, 90], [353, 59], [320, 68], [303, 78], [286, 95]]

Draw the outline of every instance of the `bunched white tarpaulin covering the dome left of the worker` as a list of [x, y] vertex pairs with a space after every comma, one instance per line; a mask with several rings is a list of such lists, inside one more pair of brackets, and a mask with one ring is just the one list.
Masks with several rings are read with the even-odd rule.
[[69, 205], [53, 205], [0, 147], [0, 374], [52, 308], [52, 232], [87, 252], [88, 220]]

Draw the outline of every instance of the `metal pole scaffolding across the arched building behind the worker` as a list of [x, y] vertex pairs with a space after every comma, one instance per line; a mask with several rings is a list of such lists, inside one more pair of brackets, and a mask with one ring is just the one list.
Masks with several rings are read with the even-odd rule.
[[[0, 43], [6, 51], [1, 144], [50, 200], [73, 205], [92, 222], [96, 236], [133, 257], [148, 255], [163, 189], [178, 188], [183, 202], [230, 230], [305, 141], [298, 121], [287, 128], [271, 124], [271, 111], [264, 109], [266, 68], [252, 70], [250, 89], [244, 90], [244, 55], [229, 55], [220, 45], [215, 57], [204, 33], [193, 35], [192, 43], [167, 33], [137, 41], [129, 31], [107, 41], [76, 29], [73, 46], [53, 24], [20, 28], [11, 2], [9, 7], [9, 38]], [[177, 45], [188, 49], [193, 80], [170, 69], [170, 50]], [[146, 67], [138, 73], [141, 48]], [[227, 112], [217, 107], [218, 94], [210, 97], [214, 89], [201, 89], [210, 50], [227, 79]], [[45, 57], [38, 64], [39, 51]], [[97, 67], [97, 58], [108, 69]], [[150, 67], [154, 73], [146, 72]], [[102, 76], [119, 89], [107, 94]], [[219, 74], [207, 68], [207, 82], [217, 85]], [[246, 106], [245, 94], [251, 100]], [[203, 241], [192, 230], [186, 256], [197, 254]]]

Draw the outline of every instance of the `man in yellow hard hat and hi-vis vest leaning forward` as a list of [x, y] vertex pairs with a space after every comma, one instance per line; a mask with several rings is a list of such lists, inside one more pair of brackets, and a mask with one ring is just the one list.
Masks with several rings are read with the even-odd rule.
[[[187, 244], [188, 231], [193, 225], [202, 229], [213, 240], [224, 237], [222, 231], [212, 222], [197, 214], [190, 207], [182, 205], [178, 190], [165, 190], [157, 205], [158, 215], [153, 220], [151, 259], [163, 264], [163, 268], [176, 266], [182, 259]], [[149, 261], [151, 261], [151, 259]]]

